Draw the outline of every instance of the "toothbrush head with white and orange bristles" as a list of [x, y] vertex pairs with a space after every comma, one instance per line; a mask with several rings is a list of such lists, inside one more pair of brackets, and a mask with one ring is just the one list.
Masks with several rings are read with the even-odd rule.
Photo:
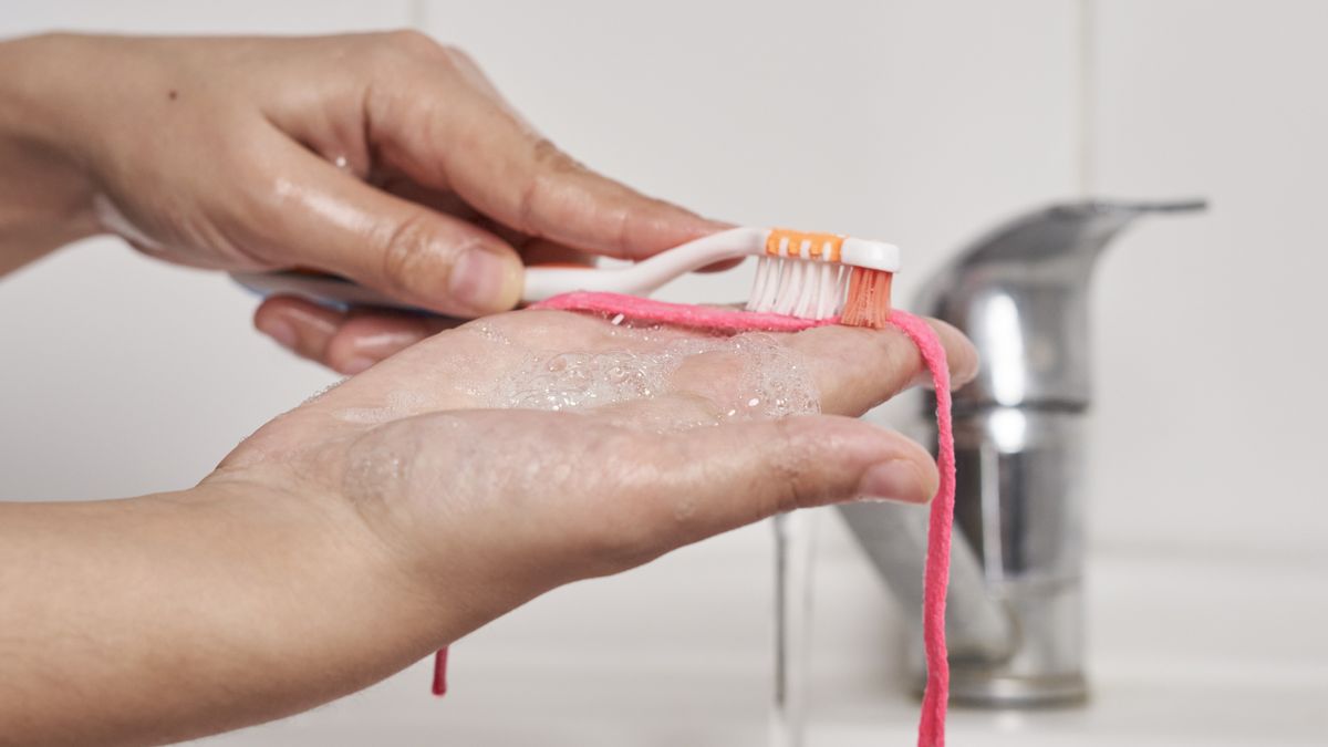
[[746, 308], [883, 327], [898, 270], [894, 245], [774, 229], [766, 235]]

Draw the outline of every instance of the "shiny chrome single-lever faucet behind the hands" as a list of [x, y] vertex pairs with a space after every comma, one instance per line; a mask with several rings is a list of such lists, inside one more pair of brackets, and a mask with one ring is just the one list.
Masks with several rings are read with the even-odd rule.
[[[1090, 401], [1088, 287], [1137, 218], [1201, 201], [1057, 205], [979, 239], [926, 284], [919, 312], [963, 330], [981, 371], [955, 392], [955, 542], [947, 595], [951, 698], [1072, 704], [1084, 677], [1084, 425]], [[935, 443], [926, 396], [922, 443]], [[906, 609], [922, 606], [926, 506], [841, 508]], [[920, 617], [910, 669], [922, 686]]]

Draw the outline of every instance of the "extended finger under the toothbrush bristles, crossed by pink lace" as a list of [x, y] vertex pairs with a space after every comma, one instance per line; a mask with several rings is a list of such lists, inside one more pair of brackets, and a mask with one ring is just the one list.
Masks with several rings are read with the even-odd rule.
[[[977, 351], [950, 324], [928, 323], [946, 348], [952, 387], [959, 388], [977, 374]], [[907, 387], [931, 380], [918, 346], [895, 328], [829, 324], [790, 335], [785, 344], [810, 362], [823, 412], [862, 415]]]

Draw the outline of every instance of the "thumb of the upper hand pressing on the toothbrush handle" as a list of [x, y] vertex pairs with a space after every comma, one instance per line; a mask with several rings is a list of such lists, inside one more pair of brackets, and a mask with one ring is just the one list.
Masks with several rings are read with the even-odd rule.
[[272, 261], [331, 270], [404, 303], [454, 316], [517, 304], [522, 265], [499, 237], [390, 195], [283, 141], [274, 194], [254, 226]]

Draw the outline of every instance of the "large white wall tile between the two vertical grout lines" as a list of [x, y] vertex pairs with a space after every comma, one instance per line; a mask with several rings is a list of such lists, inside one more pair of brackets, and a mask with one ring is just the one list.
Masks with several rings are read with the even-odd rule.
[[[588, 165], [732, 221], [898, 241], [904, 294], [991, 221], [1074, 189], [1076, 23], [1058, 0], [433, 0], [426, 16]], [[745, 298], [746, 280], [669, 292]]]

